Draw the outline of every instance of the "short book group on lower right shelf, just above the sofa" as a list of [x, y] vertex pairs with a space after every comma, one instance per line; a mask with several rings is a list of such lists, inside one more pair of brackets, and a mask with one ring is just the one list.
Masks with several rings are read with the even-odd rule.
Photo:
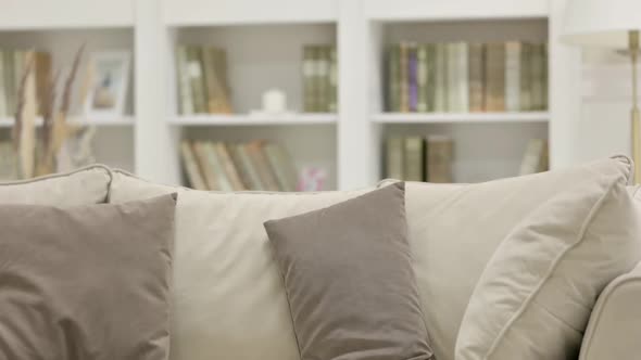
[[386, 178], [453, 182], [454, 143], [444, 136], [391, 137], [386, 142]]

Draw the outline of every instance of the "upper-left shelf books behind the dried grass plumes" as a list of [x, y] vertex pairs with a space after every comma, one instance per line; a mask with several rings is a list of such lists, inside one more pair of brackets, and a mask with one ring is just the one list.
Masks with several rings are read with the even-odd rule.
[[0, 50], [0, 117], [14, 116], [21, 79], [35, 55], [36, 101], [43, 99], [51, 75], [51, 55], [34, 50]]

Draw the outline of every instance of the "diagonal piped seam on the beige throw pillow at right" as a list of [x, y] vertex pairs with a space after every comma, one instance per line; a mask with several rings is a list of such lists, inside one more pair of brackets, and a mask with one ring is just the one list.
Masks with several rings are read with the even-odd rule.
[[619, 181], [618, 179], [616, 181], [613, 181], [607, 187], [607, 190], [594, 203], [594, 205], [590, 209], [590, 213], [588, 213], [588, 216], [586, 217], [586, 219], [583, 220], [583, 223], [581, 224], [581, 229], [579, 231], [578, 240], [576, 242], [574, 242], [571, 245], [567, 246], [556, 257], [556, 259], [554, 259], [554, 261], [552, 262], [552, 265], [548, 269], [548, 272], [545, 273], [545, 275], [543, 277], [543, 279], [541, 279], [541, 281], [539, 282], [539, 284], [537, 285], [537, 287], [532, 291], [532, 293], [530, 295], [528, 295], [528, 297], [521, 304], [521, 306], [519, 307], [519, 309], [512, 316], [512, 319], [510, 319], [507, 321], [507, 323], [505, 324], [505, 326], [501, 330], [501, 332], [499, 332], [497, 338], [492, 343], [492, 346], [490, 346], [490, 348], [488, 349], [488, 352], [485, 355], [483, 360], [488, 360], [489, 357], [494, 352], [494, 350], [497, 349], [497, 347], [499, 346], [499, 344], [501, 343], [501, 340], [505, 337], [505, 333], [507, 333], [507, 331], [510, 331], [510, 329], [516, 322], [516, 320], [518, 320], [518, 318], [520, 318], [520, 316], [525, 312], [525, 310], [528, 308], [528, 306], [533, 300], [533, 298], [539, 294], [539, 292], [541, 291], [541, 288], [543, 287], [543, 285], [548, 282], [548, 280], [550, 280], [550, 278], [552, 277], [552, 273], [554, 273], [554, 270], [556, 270], [556, 267], [565, 258], [565, 256], [567, 255], [567, 253], [569, 253], [571, 249], [574, 249], [575, 247], [577, 247], [579, 244], [582, 243], [583, 237], [586, 235], [586, 231], [588, 230], [588, 227], [589, 227], [590, 222], [594, 218], [595, 214], [601, 209], [601, 206], [603, 205], [603, 202], [605, 201], [605, 198], [607, 197], [607, 195], [612, 192], [612, 190], [614, 189], [614, 187], [618, 183], [618, 181]]

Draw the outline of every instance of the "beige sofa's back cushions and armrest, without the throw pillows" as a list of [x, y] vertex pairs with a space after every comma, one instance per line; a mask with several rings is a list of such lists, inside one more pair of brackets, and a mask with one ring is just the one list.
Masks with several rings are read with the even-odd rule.
[[[621, 164], [631, 171], [628, 163]], [[437, 359], [454, 360], [465, 309], [501, 241], [542, 203], [571, 189], [580, 179], [600, 176], [600, 171], [611, 168], [612, 160], [602, 160], [481, 184], [409, 183], [406, 213], [414, 268]], [[298, 360], [287, 297], [263, 222], [322, 208], [372, 189], [201, 192], [92, 166], [67, 175], [2, 184], [0, 203], [72, 206], [178, 192], [172, 358]], [[638, 189], [628, 188], [634, 200], [641, 196]], [[558, 360], [639, 357], [641, 267], [632, 268], [603, 290], [594, 308], [589, 309], [591, 316], [581, 323], [582, 342], [579, 337], [578, 342], [564, 343], [567, 357]]]

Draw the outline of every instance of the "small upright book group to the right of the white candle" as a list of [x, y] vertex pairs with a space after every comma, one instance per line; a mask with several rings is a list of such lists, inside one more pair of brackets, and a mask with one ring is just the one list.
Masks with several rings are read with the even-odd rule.
[[303, 47], [303, 111], [336, 113], [338, 63], [335, 46]]

